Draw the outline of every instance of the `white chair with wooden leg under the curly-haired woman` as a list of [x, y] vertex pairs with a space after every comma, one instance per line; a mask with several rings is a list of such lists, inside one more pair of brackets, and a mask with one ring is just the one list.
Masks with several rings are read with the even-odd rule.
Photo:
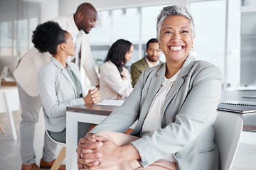
[[[48, 137], [50, 137], [47, 130], [46, 130], [46, 134], [48, 135]], [[50, 140], [53, 140], [53, 138], [50, 137]], [[66, 147], [65, 146], [66, 146], [66, 144], [63, 143], [63, 142], [55, 141], [55, 140], [53, 140], [53, 142], [63, 146], [60, 150], [60, 153], [58, 154], [58, 157], [55, 159], [55, 162], [53, 163], [53, 166], [50, 168], [50, 170], [58, 170], [59, 167], [60, 167], [60, 164], [65, 159], [65, 153], [66, 153]]]

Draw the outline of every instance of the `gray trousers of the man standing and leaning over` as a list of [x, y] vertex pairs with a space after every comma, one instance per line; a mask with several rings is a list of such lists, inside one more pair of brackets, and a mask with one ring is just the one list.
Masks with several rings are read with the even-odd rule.
[[[38, 115], [41, 104], [40, 96], [31, 97], [26, 94], [21, 86], [17, 83], [18, 95], [21, 101], [21, 160], [23, 164], [36, 163], [36, 154], [33, 149], [33, 141], [35, 136], [35, 125], [38, 123]], [[43, 134], [42, 134], [43, 135]], [[43, 145], [43, 160], [51, 162], [55, 159], [55, 151], [57, 144], [50, 140], [45, 132]]]

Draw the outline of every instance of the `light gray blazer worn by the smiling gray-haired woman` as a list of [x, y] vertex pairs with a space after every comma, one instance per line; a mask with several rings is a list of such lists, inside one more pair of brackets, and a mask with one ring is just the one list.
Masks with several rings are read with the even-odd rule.
[[[135, 120], [131, 135], [140, 136], [142, 125], [154, 96], [161, 88], [166, 63], [145, 69], [132, 94], [123, 105], [91, 132], [124, 132]], [[208, 62], [188, 56], [169, 94], [166, 96], [161, 129], [132, 142], [142, 166], [173, 154], [177, 169], [218, 169], [218, 147], [214, 140], [215, 121], [222, 84], [222, 73]]]

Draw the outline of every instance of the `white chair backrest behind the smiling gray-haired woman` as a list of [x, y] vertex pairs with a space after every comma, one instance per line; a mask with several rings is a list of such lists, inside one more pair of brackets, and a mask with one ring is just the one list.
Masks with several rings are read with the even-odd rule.
[[242, 119], [233, 113], [220, 113], [214, 123], [215, 143], [220, 149], [220, 170], [230, 170], [242, 133]]

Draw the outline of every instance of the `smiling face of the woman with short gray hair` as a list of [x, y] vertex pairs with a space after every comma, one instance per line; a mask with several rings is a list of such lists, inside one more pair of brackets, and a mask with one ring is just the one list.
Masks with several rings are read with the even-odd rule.
[[182, 63], [193, 47], [190, 21], [183, 16], [169, 16], [161, 26], [159, 47], [166, 56], [166, 62]]

